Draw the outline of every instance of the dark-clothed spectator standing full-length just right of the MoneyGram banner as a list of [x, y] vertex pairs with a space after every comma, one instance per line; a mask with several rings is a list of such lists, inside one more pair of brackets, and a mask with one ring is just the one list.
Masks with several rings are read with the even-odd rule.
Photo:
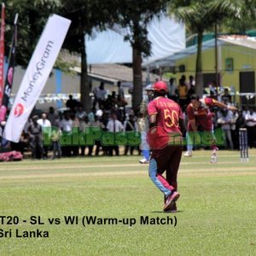
[[42, 127], [38, 124], [38, 115], [32, 117], [32, 123], [28, 125], [27, 133], [29, 136], [29, 144], [32, 149], [33, 159], [45, 159], [42, 140]]

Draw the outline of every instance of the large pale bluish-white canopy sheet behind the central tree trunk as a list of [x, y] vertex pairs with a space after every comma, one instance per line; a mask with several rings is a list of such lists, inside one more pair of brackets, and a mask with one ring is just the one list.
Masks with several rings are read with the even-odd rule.
[[[103, 32], [85, 37], [88, 64], [131, 63], [131, 44], [124, 41], [129, 29], [113, 26]], [[161, 15], [148, 24], [148, 39], [151, 42], [151, 56], [143, 62], [154, 61], [166, 55], [185, 49], [185, 26], [183, 23]]]

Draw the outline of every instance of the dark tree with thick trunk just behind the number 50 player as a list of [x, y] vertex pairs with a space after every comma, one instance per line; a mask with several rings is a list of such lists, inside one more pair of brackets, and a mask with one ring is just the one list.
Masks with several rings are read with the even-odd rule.
[[143, 97], [143, 56], [150, 55], [151, 43], [148, 41], [147, 25], [154, 15], [160, 14], [166, 1], [155, 0], [117, 0], [116, 15], [113, 19], [122, 27], [129, 28], [125, 40], [132, 47], [133, 95], [132, 108], [136, 111]]

